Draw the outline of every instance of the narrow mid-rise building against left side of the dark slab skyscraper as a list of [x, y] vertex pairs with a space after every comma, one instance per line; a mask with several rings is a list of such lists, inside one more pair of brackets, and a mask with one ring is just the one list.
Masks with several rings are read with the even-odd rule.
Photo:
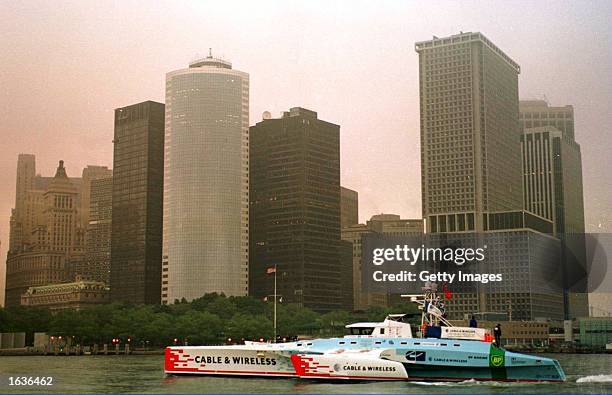
[[110, 256], [113, 212], [113, 178], [89, 182], [89, 223], [85, 235], [85, 259], [76, 268], [82, 279], [110, 284]]

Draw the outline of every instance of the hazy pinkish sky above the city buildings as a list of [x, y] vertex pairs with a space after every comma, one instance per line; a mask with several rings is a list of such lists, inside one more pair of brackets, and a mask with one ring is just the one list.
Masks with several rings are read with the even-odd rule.
[[587, 227], [610, 231], [611, 18], [610, 1], [4, 0], [0, 276], [17, 155], [43, 175], [60, 159], [69, 176], [112, 166], [113, 110], [163, 102], [165, 73], [209, 47], [250, 74], [251, 124], [302, 106], [341, 125], [342, 183], [364, 221], [421, 215], [414, 42], [481, 31], [521, 65], [521, 98], [574, 105]]

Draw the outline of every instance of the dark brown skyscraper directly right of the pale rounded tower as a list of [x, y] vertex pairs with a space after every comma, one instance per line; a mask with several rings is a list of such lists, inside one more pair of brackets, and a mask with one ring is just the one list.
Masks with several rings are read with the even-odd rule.
[[251, 294], [273, 294], [277, 266], [283, 300], [340, 308], [340, 127], [294, 107], [250, 128], [250, 159]]

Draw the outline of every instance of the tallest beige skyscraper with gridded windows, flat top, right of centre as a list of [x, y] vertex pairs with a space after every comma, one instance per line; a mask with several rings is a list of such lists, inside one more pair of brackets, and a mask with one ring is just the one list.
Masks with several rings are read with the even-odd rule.
[[429, 232], [482, 231], [521, 210], [519, 65], [481, 33], [416, 43], [423, 218]]

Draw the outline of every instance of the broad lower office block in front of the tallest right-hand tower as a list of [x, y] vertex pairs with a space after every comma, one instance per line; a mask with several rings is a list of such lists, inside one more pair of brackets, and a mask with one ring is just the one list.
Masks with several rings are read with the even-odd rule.
[[504, 313], [510, 320], [563, 320], [561, 243], [551, 234], [521, 224], [522, 219], [516, 220], [518, 224], [509, 224], [509, 229], [427, 235], [428, 247], [486, 246], [480, 264], [453, 265], [445, 270], [501, 275], [498, 282], [450, 284], [452, 297], [446, 301], [450, 319], [475, 313]]

